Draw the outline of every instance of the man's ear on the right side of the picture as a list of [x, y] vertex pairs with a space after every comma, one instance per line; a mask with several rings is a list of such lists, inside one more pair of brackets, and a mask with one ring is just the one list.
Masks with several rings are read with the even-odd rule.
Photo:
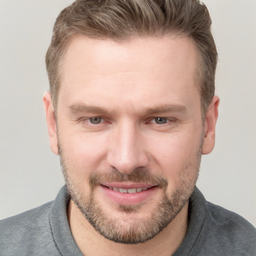
[[215, 126], [218, 118], [218, 103], [219, 97], [214, 95], [205, 115], [202, 154], [210, 153], [215, 144]]

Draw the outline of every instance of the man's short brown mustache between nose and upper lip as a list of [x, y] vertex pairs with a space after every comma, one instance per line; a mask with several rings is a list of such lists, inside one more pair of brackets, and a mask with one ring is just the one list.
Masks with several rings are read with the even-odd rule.
[[103, 182], [142, 182], [146, 184], [157, 184], [164, 190], [167, 188], [167, 180], [161, 176], [153, 174], [151, 171], [145, 168], [136, 168], [129, 174], [123, 174], [116, 168], [110, 170], [95, 171], [89, 176], [89, 185], [94, 188], [96, 185]]

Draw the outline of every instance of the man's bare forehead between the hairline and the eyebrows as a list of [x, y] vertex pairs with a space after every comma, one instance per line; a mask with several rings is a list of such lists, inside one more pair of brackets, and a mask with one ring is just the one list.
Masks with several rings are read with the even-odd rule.
[[183, 95], [189, 100], [189, 95], [199, 96], [196, 66], [197, 52], [188, 37], [116, 42], [77, 36], [62, 60], [59, 98], [68, 104], [106, 104], [114, 100], [143, 107], [159, 97], [178, 101]]

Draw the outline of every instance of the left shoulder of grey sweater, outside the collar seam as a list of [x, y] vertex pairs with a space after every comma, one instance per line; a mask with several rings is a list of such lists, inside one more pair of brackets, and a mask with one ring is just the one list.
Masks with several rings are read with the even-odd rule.
[[[35, 255], [53, 243], [49, 223], [52, 201], [0, 220], [0, 255]], [[3, 254], [1, 254], [3, 253]], [[40, 253], [38, 253], [40, 254]]]

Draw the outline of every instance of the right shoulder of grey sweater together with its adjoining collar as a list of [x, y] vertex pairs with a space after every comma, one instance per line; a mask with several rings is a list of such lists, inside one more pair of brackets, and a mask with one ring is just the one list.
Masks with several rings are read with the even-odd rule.
[[206, 201], [196, 187], [183, 244], [189, 252], [180, 255], [255, 256], [256, 229], [240, 215]]

